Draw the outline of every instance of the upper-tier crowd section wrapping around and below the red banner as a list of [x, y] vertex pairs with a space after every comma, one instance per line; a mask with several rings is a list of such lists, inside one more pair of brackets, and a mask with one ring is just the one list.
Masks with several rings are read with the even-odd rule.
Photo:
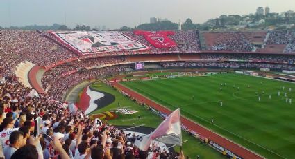
[[156, 48], [152, 44], [149, 44], [149, 41], [146, 41], [145, 37], [142, 35], [135, 35], [133, 32], [123, 33], [131, 39], [140, 41], [140, 43], [149, 46], [149, 48], [151, 48], [150, 53], [194, 53], [201, 50], [199, 32], [196, 30], [178, 31], [175, 32], [175, 35], [169, 36], [169, 38], [173, 39], [177, 44], [174, 48]]

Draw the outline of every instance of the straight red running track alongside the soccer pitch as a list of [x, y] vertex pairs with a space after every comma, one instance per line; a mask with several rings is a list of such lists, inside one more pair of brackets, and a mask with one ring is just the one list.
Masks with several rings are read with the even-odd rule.
[[[143, 95], [140, 95], [140, 93], [132, 91], [129, 88], [126, 88], [125, 86], [122, 86], [121, 84], [117, 82], [114, 82], [113, 85], [121, 89], [125, 93], [128, 93], [130, 96], [135, 97], [135, 99], [139, 100], [140, 102], [144, 102], [147, 105], [153, 107], [154, 109], [162, 113], [165, 113], [168, 115], [172, 112], [169, 109], [165, 108], [165, 106], [161, 106], [160, 104], [157, 104], [153, 102], [152, 100], [149, 100]], [[238, 156], [241, 156], [242, 158], [251, 158], [251, 159], [262, 158], [261, 156], [258, 156], [258, 154], [255, 154], [249, 151], [248, 149], [245, 149], [244, 147], [241, 147], [240, 145], [235, 144], [234, 142], [231, 142], [230, 140], [223, 138], [222, 136], [216, 133], [213, 133], [212, 131], [208, 129], [205, 129], [204, 127], [201, 127], [199, 124], [196, 124], [196, 122], [192, 122], [191, 120], [188, 120], [187, 118], [183, 116], [181, 116], [181, 122], [182, 124], [185, 125], [185, 127], [188, 127], [189, 129], [202, 134], [205, 138], [210, 138], [210, 140], [216, 142], [222, 147], [225, 147], [226, 149], [232, 151]]]

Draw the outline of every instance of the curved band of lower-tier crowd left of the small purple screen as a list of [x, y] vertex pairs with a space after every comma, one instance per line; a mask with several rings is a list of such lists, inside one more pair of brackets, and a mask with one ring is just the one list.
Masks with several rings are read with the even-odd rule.
[[75, 73], [83, 68], [99, 67], [106, 64], [119, 64], [124, 62], [125, 57], [101, 57], [101, 58], [90, 58], [90, 59], [79, 59], [74, 62], [69, 62], [51, 68], [45, 72], [42, 76], [42, 86], [47, 89], [60, 77], [65, 77], [71, 73]]

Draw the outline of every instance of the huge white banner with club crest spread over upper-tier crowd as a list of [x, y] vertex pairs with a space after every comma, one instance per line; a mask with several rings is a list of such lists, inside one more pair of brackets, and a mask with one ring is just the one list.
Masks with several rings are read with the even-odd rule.
[[51, 32], [62, 44], [82, 54], [107, 53], [113, 51], [149, 50], [148, 46], [130, 39], [122, 32], [64, 31]]

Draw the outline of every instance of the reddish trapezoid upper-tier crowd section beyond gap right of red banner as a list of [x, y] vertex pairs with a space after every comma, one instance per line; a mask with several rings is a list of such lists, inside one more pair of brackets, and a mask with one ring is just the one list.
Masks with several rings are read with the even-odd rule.
[[210, 50], [228, 50], [228, 51], [247, 51], [253, 50], [251, 41], [244, 35], [243, 32], [226, 32], [219, 33], [218, 39], [213, 44]]

